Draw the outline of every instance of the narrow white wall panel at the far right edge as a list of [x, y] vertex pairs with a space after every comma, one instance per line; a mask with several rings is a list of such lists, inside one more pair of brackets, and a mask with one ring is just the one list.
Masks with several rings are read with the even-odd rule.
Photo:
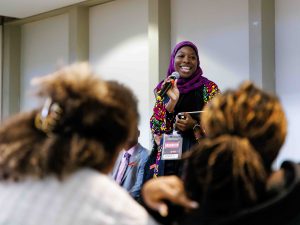
[[288, 119], [288, 136], [278, 163], [300, 161], [300, 1], [275, 1], [276, 92]]

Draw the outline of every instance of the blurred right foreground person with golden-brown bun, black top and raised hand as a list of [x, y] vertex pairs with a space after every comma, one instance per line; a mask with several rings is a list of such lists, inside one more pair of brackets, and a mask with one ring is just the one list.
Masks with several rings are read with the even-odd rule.
[[[279, 100], [245, 82], [214, 98], [201, 119], [207, 138], [185, 156], [183, 183], [176, 184], [177, 190], [180, 185], [185, 190], [177, 191], [176, 199], [185, 196], [199, 208], [174, 224], [300, 224], [299, 164], [286, 161], [277, 171], [271, 168], [287, 132]], [[158, 186], [168, 189], [150, 182], [144, 188], [158, 196]], [[145, 196], [153, 209], [161, 207], [162, 199], [172, 200], [168, 195]]]

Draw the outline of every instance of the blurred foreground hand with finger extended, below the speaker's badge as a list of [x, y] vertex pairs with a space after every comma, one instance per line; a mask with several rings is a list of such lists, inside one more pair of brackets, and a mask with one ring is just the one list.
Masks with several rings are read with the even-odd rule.
[[168, 215], [168, 206], [163, 200], [181, 205], [187, 209], [198, 208], [198, 203], [190, 200], [184, 191], [182, 180], [177, 176], [163, 176], [147, 181], [142, 188], [144, 202], [161, 216]]

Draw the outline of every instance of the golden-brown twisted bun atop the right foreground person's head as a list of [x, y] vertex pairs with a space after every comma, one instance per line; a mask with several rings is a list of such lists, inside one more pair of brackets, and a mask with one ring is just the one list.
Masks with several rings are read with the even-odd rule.
[[245, 82], [237, 91], [214, 98], [204, 110], [201, 121], [208, 137], [231, 134], [247, 138], [270, 170], [287, 132], [286, 117], [276, 96]]

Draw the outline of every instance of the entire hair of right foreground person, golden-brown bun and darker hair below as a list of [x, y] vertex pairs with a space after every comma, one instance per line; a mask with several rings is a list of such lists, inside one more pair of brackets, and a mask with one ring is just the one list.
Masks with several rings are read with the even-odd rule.
[[204, 111], [207, 138], [185, 155], [183, 179], [200, 203], [199, 218], [210, 220], [265, 198], [287, 122], [279, 100], [251, 82], [216, 96]]

